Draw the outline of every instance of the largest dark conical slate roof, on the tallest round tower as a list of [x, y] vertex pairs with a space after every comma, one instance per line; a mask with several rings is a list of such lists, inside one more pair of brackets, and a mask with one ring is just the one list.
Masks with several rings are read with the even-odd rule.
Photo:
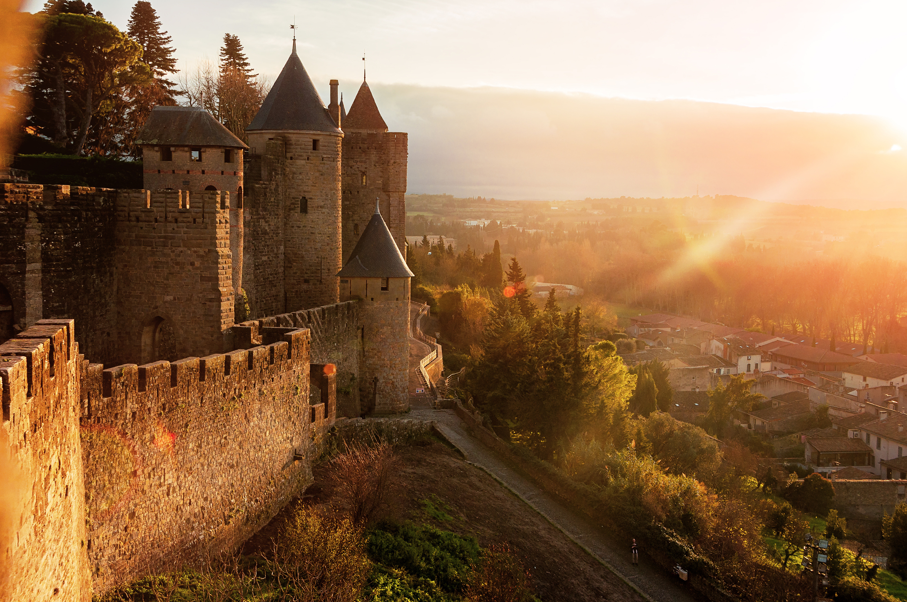
[[254, 130], [310, 130], [340, 133], [334, 120], [321, 102], [315, 85], [302, 66], [293, 41], [293, 53], [271, 86], [268, 98], [262, 102], [255, 119], [246, 131]]

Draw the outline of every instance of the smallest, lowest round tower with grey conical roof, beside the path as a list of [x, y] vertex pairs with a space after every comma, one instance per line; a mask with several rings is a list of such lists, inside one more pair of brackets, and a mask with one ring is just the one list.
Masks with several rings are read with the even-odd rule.
[[359, 399], [369, 413], [409, 407], [409, 286], [406, 266], [375, 201], [375, 213], [337, 273], [340, 298], [360, 299], [364, 362]]

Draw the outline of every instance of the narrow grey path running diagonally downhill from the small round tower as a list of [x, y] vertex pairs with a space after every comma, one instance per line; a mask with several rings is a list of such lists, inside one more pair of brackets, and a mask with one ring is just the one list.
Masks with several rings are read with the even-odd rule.
[[[490, 472], [571, 539], [610, 567], [610, 571], [601, 567], [602, 571], [612, 571], [618, 578], [633, 584], [657, 602], [693, 602], [702, 599], [687, 584], [650, 562], [645, 549], [640, 551], [639, 566], [633, 566], [629, 561], [629, 542], [610, 537], [606, 529], [564, 507], [532, 481], [522, 477], [498, 454], [473, 437], [453, 410], [414, 407], [405, 416], [437, 421], [444, 435], [463, 452], [466, 460]], [[565, 569], [569, 570], [567, 567]]]

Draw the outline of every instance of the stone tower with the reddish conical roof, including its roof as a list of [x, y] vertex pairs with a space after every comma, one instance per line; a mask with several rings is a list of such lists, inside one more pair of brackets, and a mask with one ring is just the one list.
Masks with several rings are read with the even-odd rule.
[[405, 257], [407, 136], [404, 132], [387, 131], [365, 75], [341, 127], [344, 259], [350, 257], [362, 229], [372, 218], [375, 199], [379, 199], [381, 215]]

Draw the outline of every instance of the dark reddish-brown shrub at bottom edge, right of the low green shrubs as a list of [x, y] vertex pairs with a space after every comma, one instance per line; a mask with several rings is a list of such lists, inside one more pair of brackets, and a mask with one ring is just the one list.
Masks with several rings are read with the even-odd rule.
[[529, 571], [506, 543], [489, 546], [463, 591], [469, 602], [524, 602], [532, 599]]

